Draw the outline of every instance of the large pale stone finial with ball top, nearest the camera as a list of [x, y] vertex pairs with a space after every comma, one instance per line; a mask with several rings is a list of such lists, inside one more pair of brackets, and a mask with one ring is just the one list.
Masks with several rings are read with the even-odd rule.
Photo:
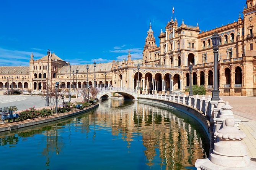
[[256, 162], [247, 156], [246, 146], [241, 142], [246, 135], [238, 130], [233, 118], [227, 118], [225, 125], [214, 133], [219, 139], [209, 159], [197, 159], [197, 170], [255, 170]]

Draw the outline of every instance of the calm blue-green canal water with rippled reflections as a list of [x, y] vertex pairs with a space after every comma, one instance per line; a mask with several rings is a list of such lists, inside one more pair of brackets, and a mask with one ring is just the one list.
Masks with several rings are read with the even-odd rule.
[[0, 169], [195, 169], [208, 143], [183, 112], [109, 99], [75, 117], [0, 133]]

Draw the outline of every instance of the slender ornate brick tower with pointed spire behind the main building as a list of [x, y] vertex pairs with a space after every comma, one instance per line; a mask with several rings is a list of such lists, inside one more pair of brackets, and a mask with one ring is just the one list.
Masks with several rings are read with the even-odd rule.
[[144, 48], [143, 48], [143, 60], [145, 62], [151, 60], [150, 50], [157, 47], [157, 45], [155, 43], [156, 40], [155, 40], [155, 37], [154, 37], [154, 32], [151, 28], [151, 22], [150, 22], [149, 30], [148, 30], [147, 33], [148, 33], [148, 35], [146, 37], [145, 45], [144, 45]]

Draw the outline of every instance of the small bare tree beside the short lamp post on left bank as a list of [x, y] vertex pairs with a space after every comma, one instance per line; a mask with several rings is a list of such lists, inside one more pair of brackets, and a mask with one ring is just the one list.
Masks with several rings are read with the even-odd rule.
[[[56, 92], [55, 92], [55, 87], [52, 86], [48, 86], [48, 96], [49, 96], [49, 107], [50, 107], [50, 110], [52, 112], [52, 114], [54, 115], [55, 114], [55, 104], [56, 104]], [[45, 96], [42, 96], [42, 99], [43, 100], [46, 100], [46, 91], [43, 91], [43, 95]], [[58, 103], [60, 101], [60, 96], [62, 94], [62, 90], [58, 88]]]

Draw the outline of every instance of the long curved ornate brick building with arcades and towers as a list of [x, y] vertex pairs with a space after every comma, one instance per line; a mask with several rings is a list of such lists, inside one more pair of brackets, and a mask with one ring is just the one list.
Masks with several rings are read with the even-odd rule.
[[[178, 21], [171, 19], [158, 36], [159, 47], [150, 24], [143, 59], [131, 60], [129, 51], [127, 61], [97, 63], [96, 67], [90, 64], [88, 84], [93, 86], [95, 71], [97, 87], [127, 87], [146, 94], [184, 91], [189, 87], [188, 65], [192, 63], [192, 84], [204, 85], [211, 95], [214, 80], [211, 37], [217, 32], [221, 37], [217, 72], [220, 95], [256, 96], [256, 0], [247, 0], [246, 5], [243, 19], [239, 14], [238, 21], [206, 32], [201, 32], [198, 24], [190, 26], [182, 21], [178, 26]], [[69, 63], [53, 53], [47, 76], [47, 63], [48, 56], [35, 61], [32, 53], [27, 67], [0, 67], [0, 88], [37, 92], [45, 89], [48, 77], [51, 85], [60, 82], [60, 88], [88, 87], [86, 65], [70, 68]]]

